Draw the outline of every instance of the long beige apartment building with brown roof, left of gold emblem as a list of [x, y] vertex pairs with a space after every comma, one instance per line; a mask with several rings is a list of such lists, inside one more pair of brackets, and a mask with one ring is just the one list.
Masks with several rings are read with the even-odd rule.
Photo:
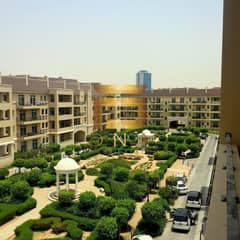
[[1, 81], [12, 88], [9, 98], [16, 103], [16, 151], [76, 144], [93, 131], [91, 83], [28, 75]]

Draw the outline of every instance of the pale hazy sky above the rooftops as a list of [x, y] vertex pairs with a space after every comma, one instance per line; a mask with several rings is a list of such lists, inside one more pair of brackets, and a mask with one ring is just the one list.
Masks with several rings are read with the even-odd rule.
[[220, 85], [223, 0], [0, 0], [0, 72]]

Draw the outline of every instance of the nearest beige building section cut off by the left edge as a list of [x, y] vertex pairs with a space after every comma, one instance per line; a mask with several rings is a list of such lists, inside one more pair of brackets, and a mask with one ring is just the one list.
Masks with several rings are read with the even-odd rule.
[[14, 159], [16, 109], [12, 101], [12, 88], [1, 84], [0, 76], [0, 168]]

